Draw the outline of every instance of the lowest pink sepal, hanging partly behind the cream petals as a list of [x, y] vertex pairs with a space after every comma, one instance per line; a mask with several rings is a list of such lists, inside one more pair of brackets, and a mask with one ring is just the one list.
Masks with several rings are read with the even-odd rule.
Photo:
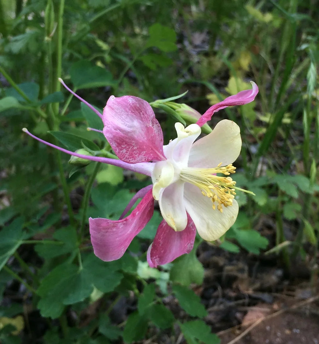
[[189, 253], [194, 246], [196, 227], [188, 215], [184, 230], [175, 232], [165, 220], [158, 226], [153, 243], [147, 251], [147, 261], [151, 268], [170, 263], [177, 257]]

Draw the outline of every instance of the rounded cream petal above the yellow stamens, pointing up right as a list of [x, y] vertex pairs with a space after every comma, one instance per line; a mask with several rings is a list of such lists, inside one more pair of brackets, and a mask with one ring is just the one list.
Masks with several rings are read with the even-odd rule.
[[214, 168], [219, 163], [226, 166], [238, 158], [241, 148], [240, 128], [235, 122], [223, 119], [210, 134], [193, 144], [188, 166]]

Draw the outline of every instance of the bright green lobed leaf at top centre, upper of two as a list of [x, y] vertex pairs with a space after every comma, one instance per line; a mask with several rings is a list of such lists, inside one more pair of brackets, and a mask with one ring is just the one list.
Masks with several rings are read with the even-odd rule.
[[177, 50], [176, 33], [173, 29], [155, 23], [149, 28], [147, 47], [155, 46], [163, 52]]

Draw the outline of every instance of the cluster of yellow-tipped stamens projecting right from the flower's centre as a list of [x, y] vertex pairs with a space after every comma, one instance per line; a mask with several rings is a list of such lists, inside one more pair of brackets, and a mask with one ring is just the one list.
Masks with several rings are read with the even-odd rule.
[[[236, 182], [228, 177], [231, 173], [235, 173], [236, 167], [232, 164], [223, 167], [221, 165], [222, 163], [213, 169], [188, 167], [182, 169], [180, 178], [197, 186], [204, 196], [212, 200], [213, 209], [217, 208], [222, 213], [222, 205], [226, 208], [233, 205], [233, 199], [236, 195], [235, 189], [242, 189], [237, 188], [235, 186]], [[216, 173], [222, 173], [227, 177], [217, 176]]]

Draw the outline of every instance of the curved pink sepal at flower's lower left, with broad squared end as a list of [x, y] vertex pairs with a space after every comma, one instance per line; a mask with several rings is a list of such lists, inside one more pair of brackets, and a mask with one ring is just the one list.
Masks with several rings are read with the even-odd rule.
[[153, 211], [154, 198], [149, 190], [131, 214], [122, 220], [90, 217], [94, 254], [104, 261], [121, 258], [134, 237], [149, 222]]

